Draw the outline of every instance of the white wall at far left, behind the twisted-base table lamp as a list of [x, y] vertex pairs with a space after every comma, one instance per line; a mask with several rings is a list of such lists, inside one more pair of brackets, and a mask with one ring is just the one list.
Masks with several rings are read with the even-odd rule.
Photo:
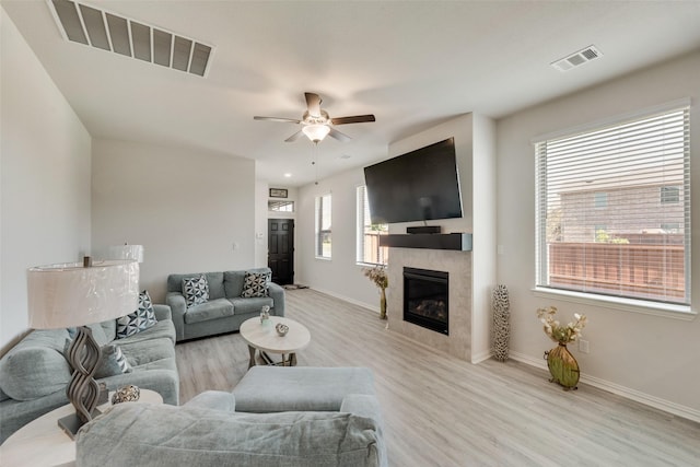
[[0, 348], [5, 348], [27, 329], [26, 269], [78, 261], [90, 250], [91, 139], [2, 9], [0, 24]]

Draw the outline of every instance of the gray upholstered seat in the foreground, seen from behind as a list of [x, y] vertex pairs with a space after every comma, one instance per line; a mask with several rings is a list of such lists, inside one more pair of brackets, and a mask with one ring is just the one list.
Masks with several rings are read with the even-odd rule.
[[75, 465], [385, 467], [383, 430], [368, 369], [256, 366], [233, 394], [112, 407], [78, 433]]

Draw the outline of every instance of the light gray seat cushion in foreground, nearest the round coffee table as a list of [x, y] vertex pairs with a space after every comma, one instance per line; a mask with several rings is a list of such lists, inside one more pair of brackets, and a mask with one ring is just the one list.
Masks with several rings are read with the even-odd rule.
[[365, 367], [253, 366], [233, 389], [238, 412], [338, 411], [349, 394], [374, 395]]

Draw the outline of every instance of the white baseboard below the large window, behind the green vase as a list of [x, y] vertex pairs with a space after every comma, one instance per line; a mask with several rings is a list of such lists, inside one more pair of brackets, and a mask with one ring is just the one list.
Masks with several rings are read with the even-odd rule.
[[[513, 351], [509, 352], [509, 355], [513, 360], [517, 360], [518, 362], [549, 371], [544, 358], [534, 359], [530, 355]], [[606, 380], [600, 380], [595, 376], [588, 376], [585, 373], [581, 373], [580, 381], [581, 383], [590, 384], [591, 386], [607, 390], [608, 393], [617, 394], [618, 396], [627, 397], [628, 399], [635, 400], [655, 409], [663, 410], [665, 412], [673, 413], [675, 416], [700, 423], [700, 410], [693, 409], [691, 407], [681, 406], [680, 404], [651, 396], [637, 389], [631, 389], [629, 387], [625, 387]]]

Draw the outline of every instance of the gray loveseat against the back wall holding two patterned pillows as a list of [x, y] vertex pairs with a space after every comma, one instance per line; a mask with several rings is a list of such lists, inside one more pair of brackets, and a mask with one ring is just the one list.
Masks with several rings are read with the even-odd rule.
[[[241, 324], [260, 314], [267, 305], [270, 314], [284, 316], [284, 289], [273, 282], [267, 284], [267, 296], [243, 297], [246, 272], [271, 273], [270, 268], [255, 268], [224, 272], [170, 275], [165, 303], [173, 311], [177, 341], [196, 339], [238, 330]], [[183, 279], [207, 278], [209, 299], [206, 303], [187, 306]]]

